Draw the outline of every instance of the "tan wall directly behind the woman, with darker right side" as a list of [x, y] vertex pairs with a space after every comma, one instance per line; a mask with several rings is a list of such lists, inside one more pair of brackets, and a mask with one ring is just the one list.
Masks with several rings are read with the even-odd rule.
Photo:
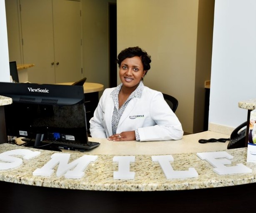
[[213, 7], [212, 0], [117, 0], [118, 53], [140, 46], [151, 55], [144, 84], [178, 99], [175, 114], [188, 133], [203, 131]]

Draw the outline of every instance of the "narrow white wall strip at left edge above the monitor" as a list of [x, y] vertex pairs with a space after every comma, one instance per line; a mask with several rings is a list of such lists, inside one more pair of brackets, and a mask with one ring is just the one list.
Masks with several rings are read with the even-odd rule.
[[0, 0], [0, 82], [10, 82], [5, 0]]

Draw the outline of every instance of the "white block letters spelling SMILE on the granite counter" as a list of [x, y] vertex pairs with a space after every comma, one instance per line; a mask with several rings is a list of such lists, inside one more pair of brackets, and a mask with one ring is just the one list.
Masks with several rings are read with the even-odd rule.
[[[0, 154], [0, 170], [6, 170], [15, 168], [23, 163], [23, 160], [16, 156], [23, 156], [23, 159], [30, 160], [40, 155], [40, 151], [31, 151], [29, 149], [14, 149], [6, 151]], [[236, 166], [230, 165], [230, 159], [233, 156], [225, 151], [219, 152], [203, 152], [197, 153], [197, 156], [206, 160], [213, 167], [213, 171], [219, 175], [223, 174], [235, 174], [235, 173], [251, 173], [252, 170], [242, 163], [238, 163]], [[58, 165], [56, 176], [64, 175], [65, 178], [82, 178], [84, 176], [84, 170], [89, 163], [96, 161], [98, 156], [84, 155], [70, 163], [70, 154], [67, 153], [54, 153], [51, 155], [50, 161], [45, 163], [41, 168], [37, 168], [33, 171], [34, 176], [51, 176], [54, 173], [54, 167]], [[135, 172], [130, 171], [130, 163], [135, 162], [135, 156], [114, 156], [113, 162], [118, 162], [118, 171], [113, 172], [114, 179], [134, 179]], [[171, 155], [152, 156], [152, 161], [158, 162], [163, 170], [167, 179], [173, 178], [192, 178], [197, 177], [198, 173], [195, 168], [188, 168], [188, 171], [174, 171], [170, 161], [173, 161]]]

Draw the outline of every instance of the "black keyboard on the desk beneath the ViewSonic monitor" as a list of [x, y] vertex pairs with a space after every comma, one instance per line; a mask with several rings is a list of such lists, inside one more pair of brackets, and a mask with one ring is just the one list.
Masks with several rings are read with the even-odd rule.
[[[22, 141], [26, 142], [26, 143], [35, 143], [35, 139], [27, 139], [27, 138], [23, 138], [21, 139]], [[100, 143], [98, 142], [92, 142], [92, 141], [88, 141], [87, 144], [76, 144], [76, 143], [72, 143], [72, 142], [63, 142], [63, 141], [48, 141], [48, 140], [43, 140], [41, 142], [41, 146], [45, 147], [49, 145], [49, 146], [57, 146], [60, 149], [69, 149], [69, 150], [80, 150], [83, 151], [85, 149], [93, 149], [97, 146], [100, 145]], [[40, 146], [35, 147], [35, 148], [40, 148]]]

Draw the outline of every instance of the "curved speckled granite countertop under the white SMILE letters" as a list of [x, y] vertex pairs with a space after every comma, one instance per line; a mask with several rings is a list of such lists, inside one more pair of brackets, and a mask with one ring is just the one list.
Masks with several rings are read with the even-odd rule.
[[[12, 149], [24, 149], [13, 144], [0, 144], [0, 153]], [[31, 148], [25, 148], [31, 149]], [[35, 149], [32, 149], [35, 150]], [[38, 151], [38, 149], [36, 149]], [[50, 160], [54, 151], [40, 150], [40, 156], [23, 160], [18, 168], [0, 171], [0, 180], [12, 183], [22, 183], [33, 186], [46, 186], [54, 188], [68, 188], [98, 191], [166, 191], [186, 190], [197, 188], [213, 188], [221, 186], [234, 186], [256, 182], [256, 164], [246, 163], [247, 148], [227, 150], [234, 156], [231, 166], [243, 163], [253, 170], [252, 173], [218, 175], [213, 171], [213, 166], [199, 159], [196, 153], [172, 154], [174, 161], [171, 163], [174, 170], [188, 170], [193, 167], [198, 172], [196, 178], [166, 179], [159, 163], [151, 160], [151, 155], [136, 155], [134, 163], [130, 165], [130, 171], [135, 172], [132, 180], [114, 180], [113, 171], [118, 170], [118, 163], [113, 162], [114, 155], [97, 155], [98, 159], [85, 169], [85, 175], [80, 179], [67, 179], [64, 176], [50, 177], [33, 176], [36, 168], [41, 168]], [[85, 153], [70, 152], [70, 161], [73, 161]]]

